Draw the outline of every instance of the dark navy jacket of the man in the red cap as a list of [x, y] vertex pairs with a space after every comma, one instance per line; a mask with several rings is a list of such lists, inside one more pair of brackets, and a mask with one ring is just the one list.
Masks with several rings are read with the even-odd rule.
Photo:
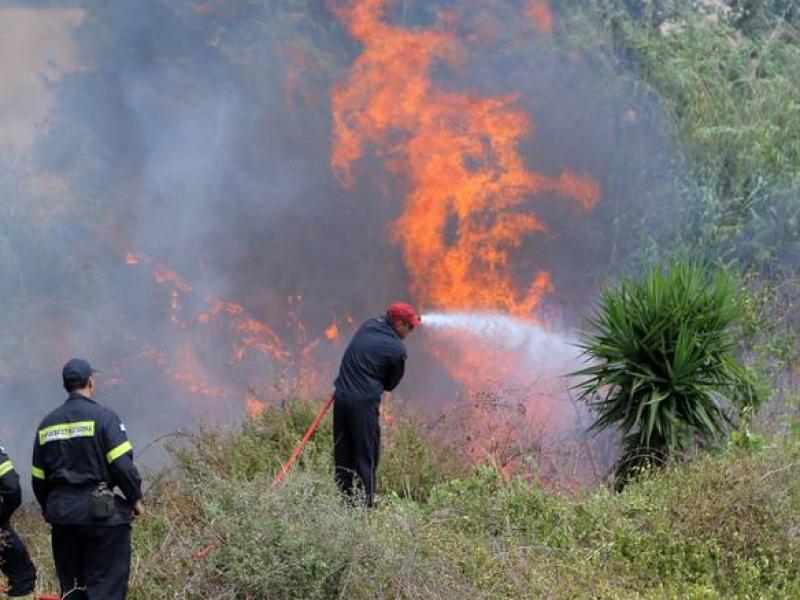
[[350, 400], [380, 401], [381, 394], [403, 378], [406, 347], [385, 319], [369, 319], [359, 327], [342, 357], [334, 382], [336, 395]]

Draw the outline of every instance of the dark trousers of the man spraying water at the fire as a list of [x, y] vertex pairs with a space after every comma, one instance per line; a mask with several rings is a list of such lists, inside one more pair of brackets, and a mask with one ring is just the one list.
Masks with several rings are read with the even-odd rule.
[[360, 480], [367, 506], [375, 503], [375, 471], [381, 453], [380, 400], [351, 400], [336, 396], [333, 402], [333, 458], [336, 483], [353, 496]]

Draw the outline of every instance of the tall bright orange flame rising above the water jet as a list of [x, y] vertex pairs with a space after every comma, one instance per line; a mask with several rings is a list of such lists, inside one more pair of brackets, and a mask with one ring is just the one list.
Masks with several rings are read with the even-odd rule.
[[521, 287], [513, 277], [513, 251], [547, 230], [531, 198], [549, 194], [591, 210], [599, 186], [566, 169], [557, 178], [529, 170], [518, 146], [532, 126], [516, 96], [438, 88], [431, 68], [457, 66], [459, 41], [447, 31], [390, 25], [385, 5], [360, 0], [336, 9], [363, 52], [333, 91], [332, 167], [352, 186], [356, 161], [376, 145], [389, 170], [408, 180], [393, 231], [423, 305], [530, 318], [553, 289], [545, 270]]

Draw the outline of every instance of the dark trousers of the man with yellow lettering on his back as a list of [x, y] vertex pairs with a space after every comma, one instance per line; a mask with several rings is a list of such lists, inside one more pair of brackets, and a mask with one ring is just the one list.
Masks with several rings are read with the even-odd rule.
[[131, 567], [130, 525], [53, 525], [53, 560], [68, 600], [122, 600]]

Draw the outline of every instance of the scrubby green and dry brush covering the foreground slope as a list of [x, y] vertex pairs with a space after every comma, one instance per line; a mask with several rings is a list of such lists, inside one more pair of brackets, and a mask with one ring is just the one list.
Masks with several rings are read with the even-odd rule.
[[[296, 403], [239, 431], [182, 438], [177, 467], [155, 478], [135, 527], [131, 597], [800, 595], [796, 437], [698, 457], [621, 494], [570, 498], [503, 482], [489, 467], [458, 472], [402, 422], [389, 430], [380, 504], [367, 513], [335, 489], [329, 426], [272, 487], [278, 458], [312, 417]], [[416, 468], [393, 460], [403, 456]], [[41, 587], [55, 589], [38, 515], [18, 528], [43, 567]]]

